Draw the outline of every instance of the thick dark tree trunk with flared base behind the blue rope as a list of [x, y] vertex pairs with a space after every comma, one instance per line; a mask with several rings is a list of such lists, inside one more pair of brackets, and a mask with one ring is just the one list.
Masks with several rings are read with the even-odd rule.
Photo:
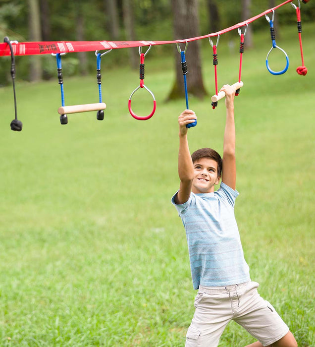
[[[172, 0], [173, 25], [175, 39], [186, 39], [199, 36], [198, 0]], [[184, 50], [185, 43], [180, 44]], [[175, 49], [174, 49], [175, 51]], [[207, 95], [204, 87], [199, 40], [190, 42], [186, 52], [188, 74], [188, 93], [203, 98]], [[179, 99], [185, 96], [181, 56], [175, 51], [176, 79], [167, 100]]]

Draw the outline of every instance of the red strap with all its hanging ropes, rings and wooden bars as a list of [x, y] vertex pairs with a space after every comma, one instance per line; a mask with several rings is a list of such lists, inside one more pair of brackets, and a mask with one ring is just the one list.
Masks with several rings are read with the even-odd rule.
[[[144, 84], [144, 58], [151, 49], [152, 46], [155, 45], [165, 45], [165, 44], [176, 44], [178, 52], [181, 54], [181, 65], [182, 65], [182, 71], [183, 71], [183, 77], [184, 77], [184, 91], [185, 91], [185, 98], [186, 98], [186, 108], [188, 109], [188, 91], [187, 91], [187, 80], [186, 80], [186, 74], [188, 72], [187, 70], [187, 62], [185, 58], [185, 53], [187, 50], [187, 45], [189, 42], [201, 40], [208, 38], [210, 45], [212, 46], [213, 50], [213, 65], [214, 65], [214, 78], [215, 78], [215, 95], [211, 97], [211, 105], [212, 109], [215, 109], [217, 106], [217, 102], [225, 97], [224, 92], [219, 92], [217, 88], [217, 45], [219, 42], [220, 35], [232, 31], [234, 29], [238, 30], [238, 33], [241, 38], [240, 42], [240, 65], [239, 65], [239, 79], [238, 82], [232, 84], [232, 87], [235, 89], [235, 95], [237, 96], [240, 92], [240, 88], [243, 86], [243, 82], [241, 81], [241, 70], [242, 70], [242, 57], [244, 53], [244, 36], [246, 34], [247, 27], [250, 23], [254, 22], [258, 18], [265, 16], [266, 20], [269, 22], [270, 26], [270, 34], [271, 34], [271, 41], [272, 41], [272, 47], [270, 51], [267, 53], [266, 57], [266, 67], [267, 70], [273, 74], [273, 75], [280, 75], [287, 71], [289, 67], [289, 58], [286, 54], [286, 52], [278, 47], [275, 42], [275, 35], [274, 35], [274, 13], [275, 10], [287, 3], [290, 3], [294, 9], [296, 10], [297, 14], [297, 24], [298, 24], [298, 33], [299, 33], [299, 42], [300, 42], [300, 51], [301, 51], [301, 58], [302, 58], [302, 66], [299, 66], [297, 68], [297, 72], [300, 75], [306, 75], [307, 68], [304, 65], [304, 57], [303, 57], [303, 48], [302, 48], [302, 38], [301, 38], [301, 32], [302, 32], [302, 24], [301, 24], [301, 11], [300, 11], [300, 0], [298, 1], [298, 6], [296, 6], [293, 3], [293, 0], [285, 0], [284, 2], [280, 3], [279, 5], [272, 7], [268, 10], [265, 10], [264, 12], [249, 18], [241, 23], [235, 24], [231, 27], [228, 27], [226, 29], [220, 30], [216, 33], [211, 33], [204, 36], [199, 37], [193, 37], [189, 39], [184, 40], [175, 40], [175, 41], [68, 41], [68, 42], [22, 42], [18, 43], [16, 41], [10, 41], [7, 37], [4, 38], [4, 42], [0, 44], [0, 56], [11, 56], [11, 76], [12, 76], [12, 84], [13, 84], [13, 92], [14, 92], [14, 110], [15, 110], [15, 119], [11, 122], [11, 129], [15, 131], [21, 131], [22, 129], [22, 122], [17, 119], [17, 111], [16, 111], [16, 95], [15, 95], [15, 85], [14, 85], [14, 79], [15, 79], [15, 59], [14, 56], [26, 56], [26, 55], [43, 55], [43, 54], [52, 54], [56, 56], [57, 60], [57, 73], [58, 73], [58, 83], [60, 84], [60, 91], [61, 91], [61, 107], [58, 109], [58, 114], [60, 115], [60, 122], [61, 124], [67, 124], [68, 117], [67, 114], [75, 114], [75, 113], [81, 113], [81, 112], [90, 112], [90, 111], [97, 111], [97, 119], [103, 120], [104, 119], [104, 110], [106, 108], [106, 104], [102, 101], [102, 87], [101, 87], [101, 57], [108, 52], [110, 52], [112, 49], [120, 49], [120, 48], [131, 48], [131, 47], [139, 47], [139, 55], [140, 55], [140, 85], [131, 93], [130, 98], [128, 100], [128, 109], [135, 119], [138, 120], [147, 120], [150, 119], [155, 111], [156, 111], [156, 99], [152, 91], [146, 87]], [[303, 3], [307, 3], [310, 0], [302, 0]], [[272, 18], [270, 19], [268, 16], [268, 13], [272, 13]], [[246, 26], [244, 33], [242, 33], [241, 28]], [[217, 42], [214, 45], [211, 37], [216, 37]], [[185, 43], [185, 50], [182, 51], [180, 49], [179, 44]], [[142, 47], [149, 47], [145, 54], [142, 53]], [[286, 58], [286, 65], [284, 69], [280, 71], [273, 71], [269, 67], [269, 55], [272, 52], [273, 49], [279, 49], [282, 51]], [[100, 54], [99, 51], [107, 50], [105, 53]], [[94, 104], [84, 104], [84, 105], [72, 105], [72, 106], [65, 106], [64, 102], [64, 91], [63, 91], [63, 77], [62, 77], [62, 67], [61, 67], [61, 56], [65, 55], [67, 53], [74, 53], [74, 52], [91, 52], [95, 51], [95, 54], [97, 56], [97, 83], [99, 85], [99, 103]], [[131, 108], [131, 99], [134, 95], [134, 93], [139, 89], [144, 88], [147, 90], [147, 92], [152, 96], [153, 98], [153, 110], [148, 116], [137, 116], [132, 108]], [[188, 127], [195, 126], [197, 124], [197, 121], [194, 123], [188, 124]]]

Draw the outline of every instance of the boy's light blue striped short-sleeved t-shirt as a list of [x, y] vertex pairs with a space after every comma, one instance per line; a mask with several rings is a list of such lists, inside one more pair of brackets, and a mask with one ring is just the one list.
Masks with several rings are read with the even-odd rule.
[[250, 281], [234, 216], [239, 193], [222, 182], [213, 193], [191, 193], [182, 205], [175, 204], [176, 194], [171, 201], [186, 230], [194, 289]]

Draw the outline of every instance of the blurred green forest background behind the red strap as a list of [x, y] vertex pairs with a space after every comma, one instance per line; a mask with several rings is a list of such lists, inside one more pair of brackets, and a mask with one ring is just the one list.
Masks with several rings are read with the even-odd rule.
[[[298, 4], [297, 1], [294, 2]], [[281, 1], [275, 0], [1, 0], [0, 36], [8, 36], [10, 40], [19, 42], [184, 39], [188, 38], [186, 33], [192, 32], [190, 27], [193, 23], [195, 29], [192, 33], [195, 36], [206, 35], [248, 19], [279, 3]], [[310, 1], [302, 5], [302, 23], [314, 21], [315, 3]], [[197, 10], [189, 11], [191, 8]], [[185, 18], [182, 13], [187, 9], [189, 17]], [[274, 26], [279, 38], [281, 25], [292, 23], [294, 16], [289, 5], [279, 8], [276, 13]], [[180, 21], [184, 23], [179, 23]], [[245, 37], [246, 49], [254, 46], [252, 31], [265, 30], [266, 26], [266, 22], [262, 20], [249, 26]], [[178, 31], [176, 27], [182, 29]], [[156, 46], [154, 54], [173, 54], [177, 63], [177, 51], [173, 46]], [[111, 66], [130, 64], [133, 68], [138, 67], [137, 48], [115, 51], [115, 55], [106, 57]], [[192, 55], [196, 57], [196, 52]], [[16, 57], [16, 64], [18, 79], [37, 81], [51, 79], [56, 75], [55, 61], [50, 56]], [[75, 53], [63, 59], [63, 66], [65, 76], [86, 75], [95, 71], [95, 58], [91, 52]], [[190, 66], [193, 69], [195, 67]], [[1, 64], [0, 85], [9, 80], [8, 68]]]

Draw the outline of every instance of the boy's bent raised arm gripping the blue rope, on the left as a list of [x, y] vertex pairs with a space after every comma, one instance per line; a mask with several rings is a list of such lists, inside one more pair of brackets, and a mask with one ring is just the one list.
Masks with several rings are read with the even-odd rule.
[[197, 119], [195, 113], [191, 110], [185, 110], [178, 117], [179, 124], [179, 151], [178, 151], [178, 175], [180, 179], [179, 191], [175, 197], [176, 204], [183, 204], [188, 201], [192, 181], [194, 177], [193, 162], [191, 159], [188, 139], [187, 124], [193, 123]]

